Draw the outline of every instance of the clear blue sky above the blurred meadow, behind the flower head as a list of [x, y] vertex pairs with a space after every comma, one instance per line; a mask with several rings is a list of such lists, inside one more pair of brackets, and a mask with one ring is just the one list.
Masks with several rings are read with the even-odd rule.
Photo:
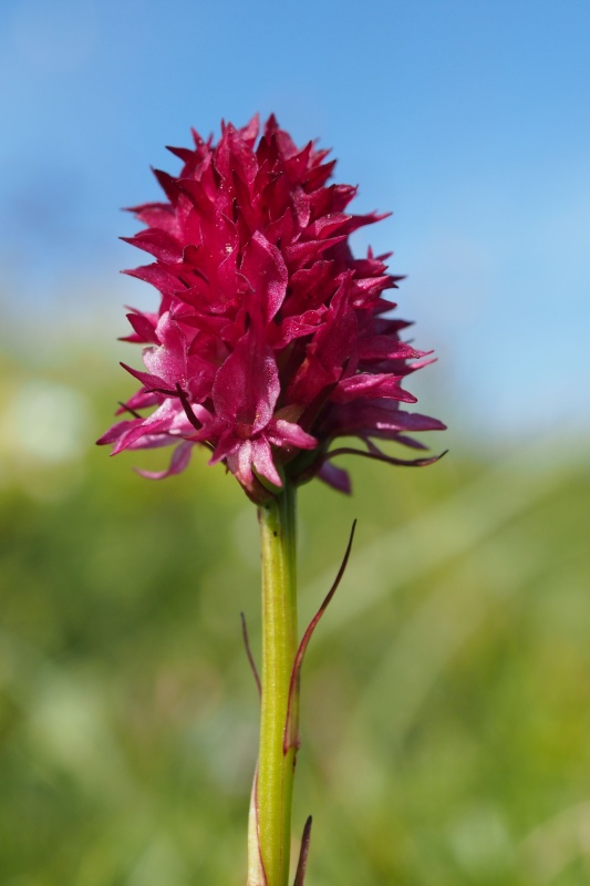
[[394, 212], [356, 245], [408, 275], [439, 356], [413, 390], [489, 440], [588, 427], [589, 39], [586, 0], [1, 0], [2, 301], [120, 334], [155, 299], [117, 275], [141, 261], [118, 207], [192, 125], [275, 111]]

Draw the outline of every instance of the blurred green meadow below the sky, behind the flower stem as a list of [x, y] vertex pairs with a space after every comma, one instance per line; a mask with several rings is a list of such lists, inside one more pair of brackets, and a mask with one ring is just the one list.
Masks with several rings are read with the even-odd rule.
[[[204, 455], [159, 484], [93, 447], [111, 354], [1, 372], [0, 883], [244, 883], [255, 508]], [[359, 518], [303, 670], [310, 886], [589, 882], [588, 441], [452, 440], [301, 490], [301, 626]]]

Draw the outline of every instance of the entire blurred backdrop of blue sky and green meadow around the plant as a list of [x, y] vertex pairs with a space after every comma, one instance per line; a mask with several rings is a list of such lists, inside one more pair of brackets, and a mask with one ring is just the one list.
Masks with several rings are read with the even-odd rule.
[[117, 207], [257, 110], [395, 210], [354, 249], [395, 249], [451, 429], [301, 491], [301, 629], [359, 518], [303, 670], [309, 886], [588, 886], [589, 31], [576, 0], [0, 0], [0, 886], [246, 880], [253, 508], [93, 441], [136, 387], [120, 306], [157, 303]]

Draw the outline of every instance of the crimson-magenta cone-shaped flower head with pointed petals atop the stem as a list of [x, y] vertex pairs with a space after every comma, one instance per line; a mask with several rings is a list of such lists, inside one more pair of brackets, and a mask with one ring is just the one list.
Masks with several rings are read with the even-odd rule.
[[[356, 193], [328, 185], [334, 161], [313, 142], [302, 150], [271, 116], [241, 130], [221, 124], [217, 145], [193, 132], [195, 148], [169, 148], [177, 177], [155, 172], [166, 200], [135, 207], [146, 225], [124, 238], [155, 257], [127, 271], [161, 295], [157, 313], [132, 310], [125, 340], [146, 344], [146, 371], [126, 413], [99, 443], [122, 450], [177, 444], [169, 467], [193, 446], [211, 451], [256, 502], [282, 477], [313, 475], [350, 490], [332, 459], [359, 452], [392, 463], [375, 440], [425, 449], [407, 433], [444, 429], [400, 408], [414, 403], [401, 382], [429, 360], [402, 341], [407, 322], [385, 297], [400, 277], [389, 255], [354, 258], [349, 236], [385, 216], [350, 215]], [[143, 411], [153, 409], [151, 414]], [[330, 451], [342, 436], [364, 449]]]

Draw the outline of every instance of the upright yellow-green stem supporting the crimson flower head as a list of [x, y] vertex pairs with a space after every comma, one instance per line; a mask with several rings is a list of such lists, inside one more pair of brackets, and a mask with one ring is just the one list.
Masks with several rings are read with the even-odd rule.
[[[256, 786], [258, 847], [267, 886], [287, 886], [296, 748], [283, 748], [297, 651], [296, 490], [258, 509], [262, 559], [262, 702]], [[292, 715], [297, 717], [298, 699]]]

